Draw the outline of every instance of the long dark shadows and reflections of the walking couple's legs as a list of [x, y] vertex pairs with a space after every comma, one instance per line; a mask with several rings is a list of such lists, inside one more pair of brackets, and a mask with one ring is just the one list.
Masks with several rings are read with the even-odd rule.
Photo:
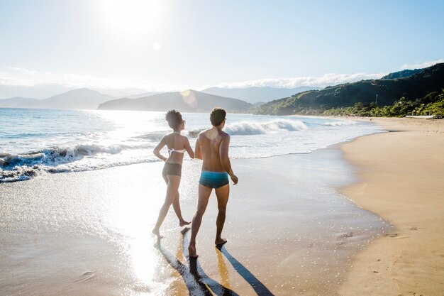
[[[238, 293], [231, 290], [230, 280], [228, 277], [228, 270], [223, 260], [223, 256], [233, 265], [233, 268], [239, 273], [239, 275], [244, 278], [248, 284], [255, 290], [257, 295], [272, 296], [272, 292], [265, 287], [264, 284], [258, 280], [255, 275], [250, 273], [250, 271], [245, 268], [239, 261], [237, 261], [233, 256], [231, 256], [228, 251], [226, 251], [225, 246], [217, 248], [218, 256], [218, 270], [221, 275], [221, 283], [216, 282], [210, 278], [204, 270], [202, 269], [199, 261], [194, 258], [189, 258], [188, 256], [188, 241], [187, 232], [189, 228], [182, 230], [182, 236], [179, 239], [179, 247], [177, 248], [176, 256], [168, 252], [162, 247], [160, 240], [157, 241], [156, 248], [162, 253], [165, 260], [182, 275], [185, 285], [189, 291], [189, 295], [218, 295], [218, 296], [237, 296]], [[223, 256], [222, 256], [223, 255]], [[185, 265], [180, 261], [186, 261], [188, 258], [189, 266]]]

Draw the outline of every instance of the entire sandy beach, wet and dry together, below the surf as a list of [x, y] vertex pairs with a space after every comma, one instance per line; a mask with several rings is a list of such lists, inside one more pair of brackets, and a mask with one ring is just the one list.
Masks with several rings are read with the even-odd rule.
[[[150, 235], [165, 194], [160, 162], [1, 184], [0, 294], [440, 295], [443, 123], [374, 122], [391, 132], [233, 159], [228, 243], [213, 246], [213, 196], [194, 263], [172, 210], [165, 237]], [[186, 219], [200, 165], [184, 162]]]

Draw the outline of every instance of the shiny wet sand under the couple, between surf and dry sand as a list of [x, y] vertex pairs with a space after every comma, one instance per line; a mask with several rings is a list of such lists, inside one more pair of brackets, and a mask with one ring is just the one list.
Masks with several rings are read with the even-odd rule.
[[[196, 209], [201, 162], [184, 162], [182, 213]], [[355, 182], [335, 148], [233, 160], [223, 237], [211, 197], [187, 258], [189, 231], [165, 196], [162, 163], [43, 175], [0, 185], [0, 295], [338, 295], [356, 253], [392, 234], [335, 190]]]

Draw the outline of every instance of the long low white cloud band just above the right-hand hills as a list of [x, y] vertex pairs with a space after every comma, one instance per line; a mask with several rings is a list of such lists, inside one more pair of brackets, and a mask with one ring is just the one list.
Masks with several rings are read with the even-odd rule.
[[245, 88], [245, 87], [277, 87], [277, 88], [294, 88], [294, 87], [326, 87], [328, 85], [341, 84], [346, 82], [356, 82], [359, 80], [379, 79], [387, 75], [387, 73], [377, 74], [338, 74], [328, 73], [321, 77], [293, 77], [293, 78], [262, 78], [260, 80], [248, 80], [244, 82], [223, 82], [216, 85], [217, 87], [226, 88]]

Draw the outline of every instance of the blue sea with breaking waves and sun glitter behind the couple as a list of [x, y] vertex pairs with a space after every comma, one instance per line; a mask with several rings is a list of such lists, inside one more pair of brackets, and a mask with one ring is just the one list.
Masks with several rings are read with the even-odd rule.
[[[182, 116], [194, 147], [209, 114]], [[311, 153], [384, 131], [362, 121], [251, 114], [228, 114], [223, 130], [231, 158]], [[170, 132], [165, 112], [0, 109], [0, 182], [160, 161], [152, 149]]]

